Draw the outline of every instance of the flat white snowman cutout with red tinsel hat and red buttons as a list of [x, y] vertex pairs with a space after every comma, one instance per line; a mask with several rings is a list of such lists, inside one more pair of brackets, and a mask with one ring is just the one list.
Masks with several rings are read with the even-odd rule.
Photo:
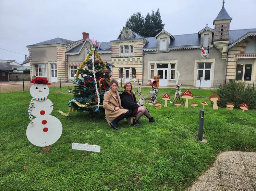
[[[29, 90], [33, 97], [28, 107], [31, 122], [27, 126], [26, 134], [28, 141], [33, 145], [46, 147], [58, 141], [62, 134], [62, 124], [59, 119], [50, 115], [53, 104], [47, 98], [49, 95], [47, 85], [50, 85], [48, 80], [36, 77], [31, 83], [34, 83]], [[33, 116], [36, 118], [33, 119]]]

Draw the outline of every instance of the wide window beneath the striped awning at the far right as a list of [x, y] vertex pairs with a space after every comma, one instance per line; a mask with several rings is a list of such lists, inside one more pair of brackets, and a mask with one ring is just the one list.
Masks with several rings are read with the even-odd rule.
[[252, 80], [252, 64], [236, 64], [235, 80]]

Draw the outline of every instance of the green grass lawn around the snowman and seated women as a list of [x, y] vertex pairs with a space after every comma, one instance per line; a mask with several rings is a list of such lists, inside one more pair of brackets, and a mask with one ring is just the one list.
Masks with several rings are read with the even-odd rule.
[[[70, 87], [72, 88], [72, 87]], [[143, 96], [150, 89], [143, 88]], [[184, 90], [184, 89], [183, 89]], [[190, 89], [194, 96], [208, 97], [210, 90]], [[159, 94], [174, 94], [175, 89], [160, 89]], [[220, 151], [256, 151], [256, 111], [225, 108], [205, 109], [204, 138], [196, 140], [199, 107], [176, 108], [159, 95], [162, 109], [147, 105], [158, 123], [143, 116], [143, 127], [126, 120], [121, 130], [107, 125], [104, 115], [68, 112], [68, 87], [50, 89], [54, 103], [51, 115], [62, 123], [60, 139], [51, 152], [29, 143], [26, 128], [29, 91], [0, 94], [0, 190], [185, 190], [214, 162]], [[171, 98], [173, 99], [173, 97]], [[194, 98], [192, 102], [208, 101]], [[202, 109], [202, 106], [200, 106]], [[72, 150], [72, 143], [100, 145], [101, 152]], [[26, 170], [23, 166], [27, 165]]]

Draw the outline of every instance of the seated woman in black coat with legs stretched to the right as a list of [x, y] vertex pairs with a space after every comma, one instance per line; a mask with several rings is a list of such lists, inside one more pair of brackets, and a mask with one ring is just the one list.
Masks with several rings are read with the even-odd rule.
[[130, 117], [135, 117], [135, 120], [133, 120], [133, 125], [141, 126], [141, 124], [138, 123], [138, 120], [143, 115], [149, 119], [149, 122], [155, 122], [154, 118], [149, 114], [148, 109], [136, 100], [135, 95], [132, 92], [131, 82], [126, 82], [124, 84], [124, 92], [120, 95], [120, 98], [122, 107], [124, 109], [131, 110]]

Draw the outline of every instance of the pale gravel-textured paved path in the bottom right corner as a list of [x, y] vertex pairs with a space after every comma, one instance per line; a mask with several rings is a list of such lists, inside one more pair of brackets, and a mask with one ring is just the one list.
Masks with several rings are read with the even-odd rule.
[[187, 191], [256, 191], [256, 152], [228, 151]]

